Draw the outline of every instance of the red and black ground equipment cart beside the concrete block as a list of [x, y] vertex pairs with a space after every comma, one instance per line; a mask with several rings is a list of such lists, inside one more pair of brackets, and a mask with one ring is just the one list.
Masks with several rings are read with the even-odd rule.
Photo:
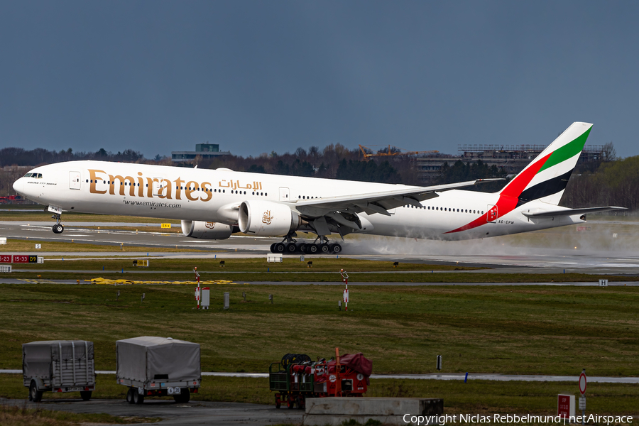
[[364, 355], [345, 354], [330, 361], [311, 361], [304, 354], [286, 354], [282, 361], [268, 368], [271, 391], [275, 391], [275, 407], [304, 408], [306, 398], [329, 396], [362, 396], [368, 388], [373, 363]]

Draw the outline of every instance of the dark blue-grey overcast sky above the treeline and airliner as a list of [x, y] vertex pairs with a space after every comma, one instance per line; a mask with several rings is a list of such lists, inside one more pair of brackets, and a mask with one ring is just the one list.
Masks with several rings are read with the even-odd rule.
[[0, 146], [639, 154], [636, 1], [4, 1]]

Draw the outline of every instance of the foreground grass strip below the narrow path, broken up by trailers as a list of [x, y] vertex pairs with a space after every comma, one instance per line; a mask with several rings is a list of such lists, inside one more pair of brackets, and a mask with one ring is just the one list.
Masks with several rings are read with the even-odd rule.
[[[444, 398], [444, 413], [536, 413], [549, 414], [557, 410], [557, 394], [579, 394], [577, 383], [564, 382], [496, 382], [392, 380], [372, 379], [366, 396], [392, 398]], [[74, 393], [43, 394], [44, 399], [74, 398]], [[124, 400], [126, 387], [115, 383], [114, 375], [99, 375], [93, 398]], [[589, 383], [589, 413], [639, 414], [639, 385]], [[27, 397], [18, 374], [0, 375], [0, 397]], [[79, 396], [77, 396], [79, 398]], [[268, 391], [266, 378], [211, 377], [202, 378], [200, 393], [192, 401], [229, 401], [274, 405], [274, 395]], [[155, 399], [155, 398], [154, 398]], [[163, 399], [172, 399], [170, 397]]]

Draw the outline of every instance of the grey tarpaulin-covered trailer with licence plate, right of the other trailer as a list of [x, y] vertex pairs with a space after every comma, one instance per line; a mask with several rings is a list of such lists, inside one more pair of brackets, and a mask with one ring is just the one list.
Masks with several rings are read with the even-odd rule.
[[133, 337], [116, 342], [116, 380], [129, 386], [126, 400], [173, 396], [187, 403], [202, 383], [200, 344], [170, 337]]

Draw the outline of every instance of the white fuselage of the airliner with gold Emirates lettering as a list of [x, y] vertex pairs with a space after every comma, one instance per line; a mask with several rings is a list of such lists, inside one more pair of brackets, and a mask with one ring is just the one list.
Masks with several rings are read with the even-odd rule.
[[[237, 224], [237, 206], [246, 200], [290, 205], [339, 195], [374, 194], [403, 185], [320, 178], [242, 173], [160, 165], [71, 161], [31, 170], [37, 178], [20, 178], [14, 189], [30, 200], [70, 212], [184, 219]], [[39, 175], [42, 175], [41, 178]], [[408, 188], [408, 187], [407, 187]], [[529, 219], [522, 211], [561, 209], [539, 200], [491, 217], [464, 229], [486, 215], [498, 193], [466, 190], [438, 192], [422, 201], [391, 209], [390, 216], [359, 213], [366, 224], [361, 233], [422, 239], [476, 239], [516, 234], [584, 222], [578, 215]], [[371, 229], [372, 228], [372, 229]]]

